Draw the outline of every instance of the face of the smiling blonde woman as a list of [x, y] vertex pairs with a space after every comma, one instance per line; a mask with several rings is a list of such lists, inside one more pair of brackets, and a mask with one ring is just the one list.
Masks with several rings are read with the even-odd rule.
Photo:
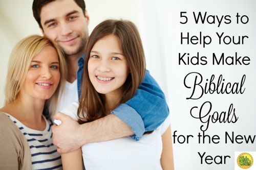
[[59, 79], [58, 54], [54, 47], [46, 46], [32, 59], [20, 94], [25, 98], [50, 99]]

